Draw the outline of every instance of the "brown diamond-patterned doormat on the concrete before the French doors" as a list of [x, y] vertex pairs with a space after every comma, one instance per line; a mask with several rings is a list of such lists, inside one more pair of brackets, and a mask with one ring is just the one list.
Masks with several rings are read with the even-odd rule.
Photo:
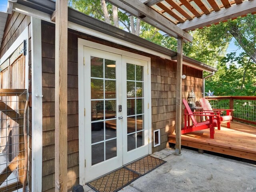
[[87, 183], [96, 192], [116, 192], [166, 161], [150, 155]]

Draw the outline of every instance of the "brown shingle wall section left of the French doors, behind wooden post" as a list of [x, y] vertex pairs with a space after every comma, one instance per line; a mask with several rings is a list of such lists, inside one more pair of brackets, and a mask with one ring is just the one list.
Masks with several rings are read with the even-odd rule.
[[[54, 191], [55, 28], [42, 24], [42, 191]], [[77, 38], [68, 34], [68, 190], [79, 183]]]

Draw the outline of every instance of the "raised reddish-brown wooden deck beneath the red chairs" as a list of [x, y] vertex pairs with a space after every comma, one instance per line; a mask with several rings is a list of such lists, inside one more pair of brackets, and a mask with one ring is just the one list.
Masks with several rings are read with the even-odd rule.
[[[209, 129], [183, 134], [181, 145], [256, 160], [256, 127], [239, 122], [231, 122], [230, 127], [221, 124], [220, 130], [215, 128], [214, 139], [210, 139]], [[168, 138], [175, 144], [175, 133]]]

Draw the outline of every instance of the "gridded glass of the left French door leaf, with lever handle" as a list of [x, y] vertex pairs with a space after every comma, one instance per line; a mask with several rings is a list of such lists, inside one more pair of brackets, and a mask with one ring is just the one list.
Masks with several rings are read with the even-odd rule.
[[91, 56], [92, 165], [117, 155], [116, 61]]

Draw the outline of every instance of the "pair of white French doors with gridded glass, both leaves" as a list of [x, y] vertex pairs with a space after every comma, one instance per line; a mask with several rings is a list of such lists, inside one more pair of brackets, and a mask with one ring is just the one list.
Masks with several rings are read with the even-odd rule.
[[147, 61], [84, 46], [88, 182], [149, 153]]

